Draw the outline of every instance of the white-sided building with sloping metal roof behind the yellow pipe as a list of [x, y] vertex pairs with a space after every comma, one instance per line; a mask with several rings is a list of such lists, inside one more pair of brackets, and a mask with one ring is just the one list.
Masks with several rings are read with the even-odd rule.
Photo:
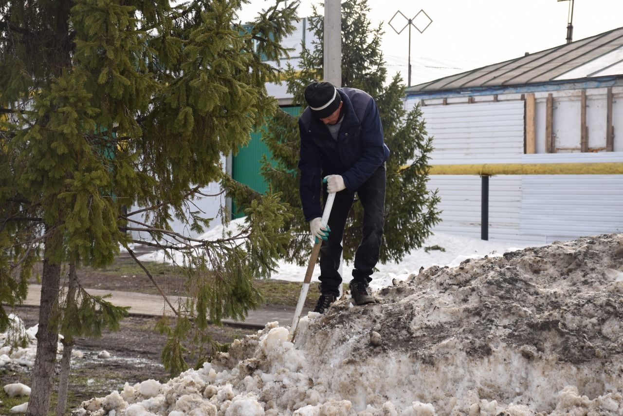
[[[623, 27], [407, 89], [431, 165], [623, 162]], [[394, 150], [396, 151], [396, 150]], [[480, 178], [432, 175], [439, 231], [480, 236]], [[550, 243], [623, 232], [623, 175], [490, 179], [489, 238]]]

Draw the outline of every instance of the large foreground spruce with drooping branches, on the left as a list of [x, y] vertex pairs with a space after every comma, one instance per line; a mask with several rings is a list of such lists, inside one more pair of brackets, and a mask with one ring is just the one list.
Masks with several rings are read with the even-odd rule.
[[[209, 223], [188, 208], [222, 178], [221, 155], [275, 109], [265, 82], [278, 73], [262, 55], [287, 54], [280, 41], [297, 3], [277, 0], [244, 27], [241, 0], [171, 3], [0, 0], [2, 304], [24, 299], [43, 261], [29, 415], [48, 412], [59, 332], [70, 349], [72, 337], [115, 329], [125, 314], [84, 291], [75, 268], [107, 266], [120, 246], [134, 256], [131, 243], [183, 256], [188, 301], [159, 325], [176, 372], [186, 349], [205, 359], [219, 347], [207, 322], [257, 306], [251, 281], [269, 276], [288, 239], [278, 195], [250, 203], [245, 226], [214, 241], [174, 233], [169, 221], [198, 233]], [[133, 241], [132, 230], [156, 242]], [[0, 307], [0, 330], [7, 324]]]

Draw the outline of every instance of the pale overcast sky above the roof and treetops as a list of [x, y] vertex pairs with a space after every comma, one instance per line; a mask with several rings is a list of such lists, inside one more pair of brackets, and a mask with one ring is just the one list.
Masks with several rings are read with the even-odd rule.
[[[267, 7], [270, 0], [252, 0], [241, 14], [248, 19]], [[302, 0], [299, 14], [311, 14], [312, 4]], [[421, 9], [432, 24], [423, 34], [411, 31], [412, 85], [430, 77], [425, 67], [439, 65], [439, 75], [502, 62], [564, 44], [569, 1], [556, 0], [369, 0], [371, 20], [384, 22], [383, 52], [390, 72], [400, 70], [406, 79], [407, 29], [397, 35], [388, 26], [400, 10], [414, 17]], [[406, 24], [401, 18], [401, 28]], [[393, 24], [394, 22], [392, 22]], [[425, 23], [426, 24], [426, 23]], [[623, 0], [576, 0], [573, 12], [573, 40], [584, 39], [623, 26]], [[454, 69], [453, 69], [454, 68]], [[417, 77], [415, 72], [424, 72]], [[422, 78], [424, 77], [424, 78]]]

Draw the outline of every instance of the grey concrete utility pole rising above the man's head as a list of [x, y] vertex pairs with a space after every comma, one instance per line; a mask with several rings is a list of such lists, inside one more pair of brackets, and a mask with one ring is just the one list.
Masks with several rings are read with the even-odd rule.
[[323, 73], [325, 81], [342, 86], [342, 13], [341, 0], [325, 0]]

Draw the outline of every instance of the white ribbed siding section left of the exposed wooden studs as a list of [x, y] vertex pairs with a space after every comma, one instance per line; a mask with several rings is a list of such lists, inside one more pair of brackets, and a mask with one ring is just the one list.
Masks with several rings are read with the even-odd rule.
[[[431, 164], [520, 163], [523, 154], [523, 102], [483, 102], [422, 107], [434, 136]], [[480, 238], [481, 179], [435, 175], [443, 221], [435, 230]], [[520, 239], [521, 177], [489, 181], [489, 238]]]

